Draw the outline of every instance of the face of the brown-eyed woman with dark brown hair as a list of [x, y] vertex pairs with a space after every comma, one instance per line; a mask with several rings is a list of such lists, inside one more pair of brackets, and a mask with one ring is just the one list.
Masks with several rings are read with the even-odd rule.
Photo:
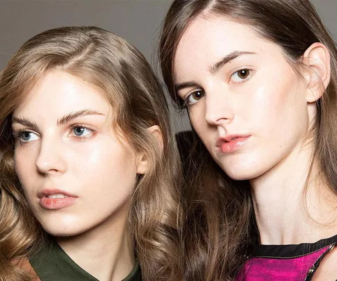
[[174, 83], [196, 133], [231, 178], [295, 157], [309, 130], [309, 88], [277, 44], [225, 17], [197, 17], [174, 57]]

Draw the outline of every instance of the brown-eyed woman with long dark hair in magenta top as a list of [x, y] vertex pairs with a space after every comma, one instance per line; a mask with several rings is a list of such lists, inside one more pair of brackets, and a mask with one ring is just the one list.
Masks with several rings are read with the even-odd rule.
[[185, 280], [336, 280], [337, 50], [312, 4], [173, 1], [160, 57], [195, 133]]

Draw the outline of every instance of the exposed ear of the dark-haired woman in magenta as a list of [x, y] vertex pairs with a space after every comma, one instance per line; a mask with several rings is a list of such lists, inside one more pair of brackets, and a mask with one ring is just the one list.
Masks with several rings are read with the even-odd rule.
[[331, 76], [330, 53], [324, 44], [316, 42], [306, 49], [302, 58], [309, 69], [308, 76], [306, 76], [309, 88], [306, 101], [313, 103], [320, 99], [329, 85]]

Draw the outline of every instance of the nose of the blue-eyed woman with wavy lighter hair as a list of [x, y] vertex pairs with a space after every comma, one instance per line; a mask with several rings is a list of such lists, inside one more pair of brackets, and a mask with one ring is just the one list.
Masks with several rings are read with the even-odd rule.
[[35, 165], [38, 171], [44, 175], [65, 173], [67, 162], [60, 141], [53, 139], [53, 137], [42, 139]]

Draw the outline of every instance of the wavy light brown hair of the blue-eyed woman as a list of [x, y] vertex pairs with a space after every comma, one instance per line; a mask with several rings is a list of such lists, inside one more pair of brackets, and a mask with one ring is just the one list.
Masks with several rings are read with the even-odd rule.
[[[35, 35], [10, 58], [0, 77], [0, 280], [29, 280], [13, 260], [38, 245], [43, 230], [22, 192], [13, 163], [13, 110], [53, 69], [105, 94], [113, 128], [147, 155], [149, 171], [138, 178], [129, 229], [143, 280], [181, 280], [180, 162], [162, 85], [147, 60], [125, 40], [92, 26], [55, 28]], [[163, 146], [147, 128], [161, 128]]]

